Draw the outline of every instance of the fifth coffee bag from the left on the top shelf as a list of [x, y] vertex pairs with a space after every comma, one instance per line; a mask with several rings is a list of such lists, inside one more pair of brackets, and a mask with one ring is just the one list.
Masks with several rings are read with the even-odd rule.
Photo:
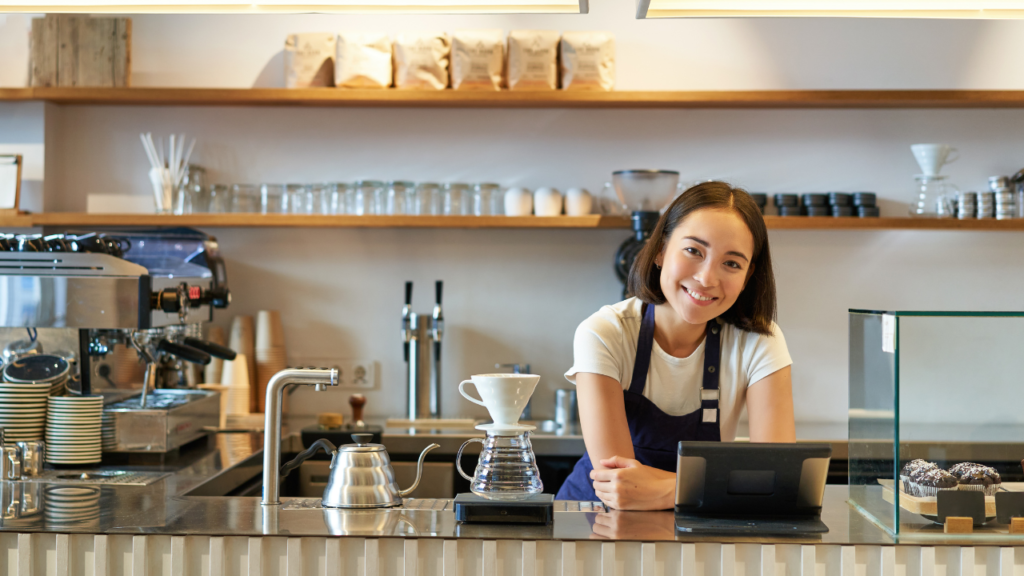
[[509, 90], [558, 88], [558, 33], [551, 30], [509, 32]]

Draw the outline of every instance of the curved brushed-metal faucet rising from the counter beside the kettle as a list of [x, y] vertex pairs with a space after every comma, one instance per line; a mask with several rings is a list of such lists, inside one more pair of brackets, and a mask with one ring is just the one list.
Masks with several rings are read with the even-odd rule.
[[266, 416], [263, 423], [264, 506], [281, 504], [281, 404], [285, 386], [305, 384], [317, 392], [338, 385], [337, 368], [289, 368], [270, 377], [266, 384]]

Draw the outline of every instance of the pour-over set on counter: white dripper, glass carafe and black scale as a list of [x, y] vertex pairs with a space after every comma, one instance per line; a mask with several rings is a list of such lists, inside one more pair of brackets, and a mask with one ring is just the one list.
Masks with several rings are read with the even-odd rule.
[[[480, 374], [459, 384], [467, 400], [487, 409], [494, 420], [480, 424], [484, 438], [471, 438], [456, 456], [459, 474], [470, 482], [470, 493], [455, 498], [456, 520], [462, 523], [550, 524], [554, 518], [554, 495], [544, 494], [537, 455], [529, 442], [536, 426], [520, 424], [523, 408], [541, 377], [535, 374]], [[473, 384], [479, 400], [465, 387]], [[473, 475], [462, 469], [466, 446], [483, 446]]]

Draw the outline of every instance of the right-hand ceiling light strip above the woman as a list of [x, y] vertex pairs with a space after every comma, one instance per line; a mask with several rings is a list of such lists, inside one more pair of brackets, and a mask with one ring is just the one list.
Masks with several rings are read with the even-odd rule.
[[1024, 0], [637, 0], [637, 18], [1024, 18]]

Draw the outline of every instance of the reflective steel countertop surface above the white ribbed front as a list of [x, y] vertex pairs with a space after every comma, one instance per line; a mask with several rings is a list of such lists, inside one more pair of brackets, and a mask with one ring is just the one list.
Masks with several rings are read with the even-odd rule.
[[[298, 429], [299, 425], [290, 425]], [[541, 531], [517, 530], [508, 526], [460, 528], [449, 500], [407, 499], [396, 508], [345, 510], [322, 508], [318, 499], [286, 498], [281, 506], [261, 506], [258, 497], [196, 496], [204, 485], [217, 484], [234, 472], [244, 471], [232, 482], [221, 484], [225, 491], [243, 479], [259, 476], [262, 438], [253, 434], [215, 435], [202, 447], [182, 450], [173, 463], [150, 466], [145, 471], [170, 472], [147, 486], [99, 485], [82, 496], [83, 505], [93, 510], [88, 521], [60, 516], [59, 501], [47, 499], [50, 488], [43, 482], [0, 482], [0, 511], [16, 520], [0, 523], [0, 532], [58, 532], [92, 534], [172, 534], [207, 536], [358, 536], [535, 540], [622, 540], [622, 541], [718, 541], [731, 543], [822, 543], [833, 545], [894, 544], [881, 529], [847, 503], [845, 486], [825, 487], [822, 521], [829, 532], [820, 538], [695, 537], [677, 536], [671, 511], [605, 510], [590, 502], [555, 502], [555, 521]], [[286, 449], [297, 450], [298, 435], [285, 437]], [[422, 439], [421, 439], [422, 442]], [[141, 469], [141, 467], [139, 467]], [[880, 491], [881, 492], [881, 491]], [[886, 505], [879, 497], [879, 505]], [[17, 502], [13, 504], [12, 502]], [[269, 512], [273, 513], [269, 513]], [[330, 512], [330, 513], [326, 513]], [[349, 515], [368, 516], [349, 520]], [[392, 522], [392, 517], [407, 522]], [[412, 525], [412, 528], [410, 528]], [[390, 530], [390, 532], [388, 532]], [[996, 533], [984, 527], [971, 537], [946, 537], [941, 527], [903, 538], [900, 543], [1008, 545], [1019, 543], [1006, 527]], [[1014, 540], [1016, 538], [1016, 540]]]

